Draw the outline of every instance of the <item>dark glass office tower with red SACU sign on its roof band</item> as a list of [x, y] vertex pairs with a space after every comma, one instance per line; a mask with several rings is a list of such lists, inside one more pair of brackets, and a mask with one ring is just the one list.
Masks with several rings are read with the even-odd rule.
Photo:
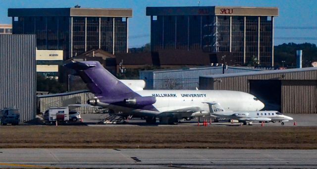
[[277, 7], [147, 7], [146, 14], [153, 53], [195, 51], [213, 63], [246, 65], [256, 58], [273, 66]]

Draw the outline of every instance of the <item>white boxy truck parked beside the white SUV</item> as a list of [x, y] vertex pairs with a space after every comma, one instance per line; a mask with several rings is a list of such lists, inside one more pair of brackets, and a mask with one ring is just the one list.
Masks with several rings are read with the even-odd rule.
[[58, 107], [49, 109], [49, 121], [64, 121], [68, 122], [69, 120], [69, 109], [68, 107]]

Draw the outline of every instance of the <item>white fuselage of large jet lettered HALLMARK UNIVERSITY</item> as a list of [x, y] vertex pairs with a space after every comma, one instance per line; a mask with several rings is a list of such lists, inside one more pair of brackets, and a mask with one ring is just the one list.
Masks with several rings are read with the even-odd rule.
[[[191, 114], [191, 116], [210, 115], [208, 102], [217, 102], [228, 111], [259, 111], [264, 104], [255, 100], [255, 96], [244, 92], [221, 91], [221, 90], [140, 90], [135, 91], [141, 96], [154, 96], [156, 103], [153, 104], [157, 111], [142, 109], [131, 109], [111, 106], [121, 112], [142, 112], [159, 114], [188, 107], [199, 107], [202, 111]], [[110, 105], [109, 105], [110, 106]]]

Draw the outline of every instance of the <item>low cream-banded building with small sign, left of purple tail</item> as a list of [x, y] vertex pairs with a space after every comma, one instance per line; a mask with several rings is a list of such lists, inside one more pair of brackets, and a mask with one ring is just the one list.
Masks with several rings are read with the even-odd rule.
[[45, 77], [58, 79], [58, 67], [63, 63], [63, 51], [36, 51], [36, 72]]

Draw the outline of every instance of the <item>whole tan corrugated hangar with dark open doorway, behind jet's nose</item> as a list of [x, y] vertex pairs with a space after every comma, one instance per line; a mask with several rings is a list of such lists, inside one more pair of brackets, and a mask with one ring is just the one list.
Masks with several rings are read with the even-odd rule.
[[317, 113], [317, 67], [201, 76], [199, 87], [250, 93], [264, 110]]

